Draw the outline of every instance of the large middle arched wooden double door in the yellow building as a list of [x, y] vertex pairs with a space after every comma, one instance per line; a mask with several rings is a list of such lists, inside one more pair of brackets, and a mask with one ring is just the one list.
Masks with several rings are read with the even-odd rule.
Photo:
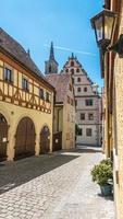
[[35, 126], [29, 117], [24, 117], [15, 134], [15, 160], [35, 154]]

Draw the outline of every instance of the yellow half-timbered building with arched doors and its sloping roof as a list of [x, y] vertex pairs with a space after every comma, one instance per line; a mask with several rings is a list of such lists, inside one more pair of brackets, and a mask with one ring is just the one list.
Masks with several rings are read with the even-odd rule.
[[52, 151], [54, 89], [0, 28], [0, 161]]

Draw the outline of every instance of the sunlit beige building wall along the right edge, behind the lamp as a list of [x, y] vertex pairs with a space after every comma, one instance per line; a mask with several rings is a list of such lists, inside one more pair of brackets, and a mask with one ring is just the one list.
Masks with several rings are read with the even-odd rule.
[[[111, 45], [123, 34], [123, 0], [104, 0], [104, 9], [116, 12]], [[122, 50], [122, 44], [116, 51]], [[103, 57], [101, 57], [103, 60]], [[123, 219], [123, 55], [107, 51], [101, 62], [103, 89], [103, 151], [113, 161], [116, 218]]]

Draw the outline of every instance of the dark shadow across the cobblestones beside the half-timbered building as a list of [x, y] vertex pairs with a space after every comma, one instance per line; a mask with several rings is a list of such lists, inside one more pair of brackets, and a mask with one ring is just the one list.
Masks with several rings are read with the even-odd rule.
[[57, 169], [78, 155], [42, 154], [0, 164], [0, 194]]

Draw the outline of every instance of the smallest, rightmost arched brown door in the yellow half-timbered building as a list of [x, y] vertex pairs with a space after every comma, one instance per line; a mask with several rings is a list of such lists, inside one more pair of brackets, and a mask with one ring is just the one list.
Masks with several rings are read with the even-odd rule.
[[40, 131], [40, 153], [50, 151], [50, 131], [48, 126], [44, 126]]

